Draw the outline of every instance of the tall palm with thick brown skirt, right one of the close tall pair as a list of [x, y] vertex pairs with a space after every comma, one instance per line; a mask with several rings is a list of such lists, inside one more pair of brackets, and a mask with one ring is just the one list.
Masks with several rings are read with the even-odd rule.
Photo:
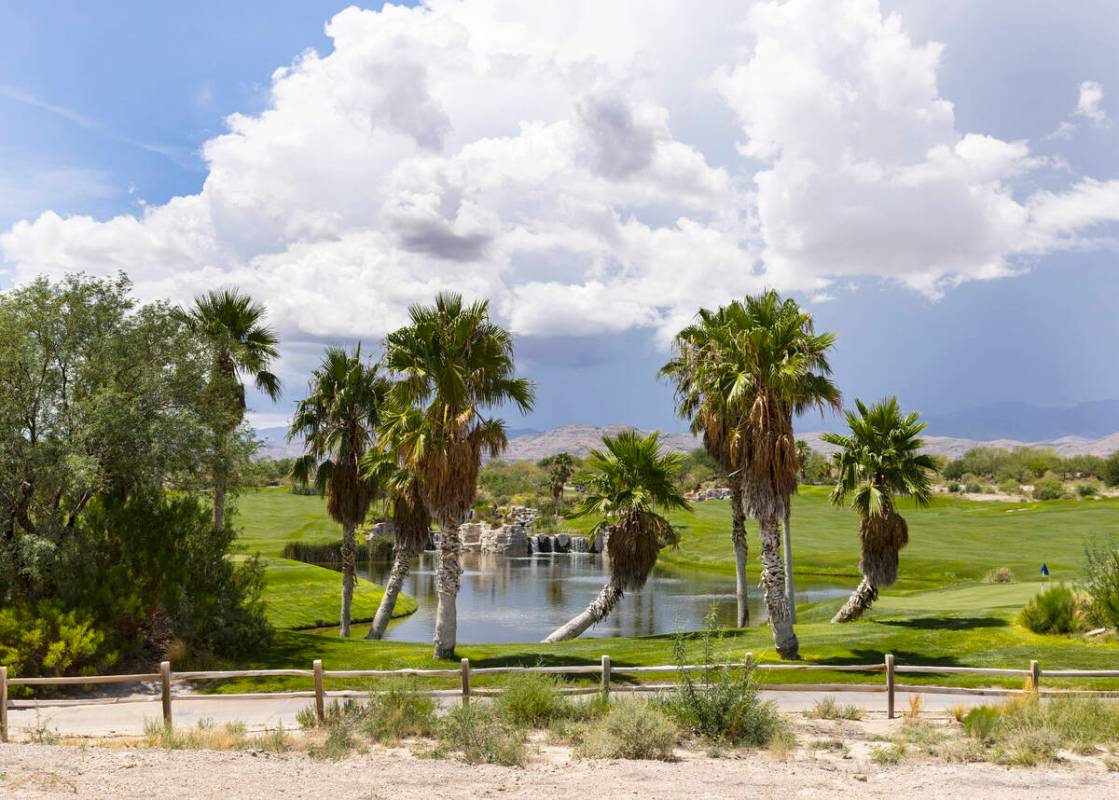
[[725, 313], [734, 332], [723, 385], [727, 403], [747, 408], [737, 434], [743, 507], [761, 534], [762, 590], [774, 646], [782, 658], [797, 658], [781, 559], [781, 526], [799, 472], [792, 417], [810, 408], [839, 408], [827, 357], [836, 337], [816, 333], [811, 314], [773, 291], [732, 302]]

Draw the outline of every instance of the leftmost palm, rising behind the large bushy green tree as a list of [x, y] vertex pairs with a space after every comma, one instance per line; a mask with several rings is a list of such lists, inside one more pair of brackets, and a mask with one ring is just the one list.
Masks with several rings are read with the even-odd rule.
[[214, 404], [215, 453], [214, 527], [225, 527], [225, 495], [229, 467], [226, 463], [229, 440], [245, 418], [245, 386], [248, 376], [261, 392], [273, 401], [280, 397], [280, 379], [269, 371], [279, 355], [279, 339], [262, 322], [265, 309], [247, 294], [236, 290], [218, 290], [195, 298], [195, 305], [182, 312], [187, 326], [199, 335], [209, 348], [210, 379], [208, 393]]

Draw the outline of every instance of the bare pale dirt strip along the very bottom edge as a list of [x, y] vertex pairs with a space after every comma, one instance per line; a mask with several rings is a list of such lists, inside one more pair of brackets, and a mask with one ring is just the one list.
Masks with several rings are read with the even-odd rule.
[[0, 745], [0, 797], [161, 800], [442, 800], [444, 798], [960, 798], [1113, 800], [1119, 773], [1063, 764], [903, 762], [877, 766], [857, 755], [685, 752], [662, 762], [576, 761], [544, 754], [525, 769], [470, 766], [377, 751], [340, 762], [302, 754]]

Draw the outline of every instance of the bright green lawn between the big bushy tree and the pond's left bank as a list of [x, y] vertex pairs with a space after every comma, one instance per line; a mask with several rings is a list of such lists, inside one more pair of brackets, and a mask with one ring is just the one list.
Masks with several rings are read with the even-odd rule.
[[[242, 535], [236, 552], [260, 554], [264, 561], [264, 602], [269, 621], [280, 630], [337, 625], [341, 617], [341, 576], [333, 570], [280, 558], [289, 542], [337, 542], [338, 525], [319, 497], [286, 489], [262, 489], [237, 499], [236, 525]], [[369, 622], [380, 604], [382, 587], [358, 581], [354, 589], [354, 622]], [[412, 597], [401, 594], [393, 617], [411, 614]]]

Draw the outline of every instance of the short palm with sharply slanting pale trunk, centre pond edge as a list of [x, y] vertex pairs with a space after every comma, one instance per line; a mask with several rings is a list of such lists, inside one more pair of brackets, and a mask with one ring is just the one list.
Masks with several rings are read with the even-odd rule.
[[624, 592], [643, 586], [660, 548], [676, 543], [676, 530], [660, 512], [688, 509], [676, 486], [683, 455], [662, 453], [659, 434], [623, 431], [603, 436], [602, 444], [604, 450], [592, 451], [586, 460], [589, 478], [572, 516], [599, 517], [592, 535], [606, 537], [610, 580], [586, 611], [553, 631], [546, 642], [574, 639], [604, 620]]

